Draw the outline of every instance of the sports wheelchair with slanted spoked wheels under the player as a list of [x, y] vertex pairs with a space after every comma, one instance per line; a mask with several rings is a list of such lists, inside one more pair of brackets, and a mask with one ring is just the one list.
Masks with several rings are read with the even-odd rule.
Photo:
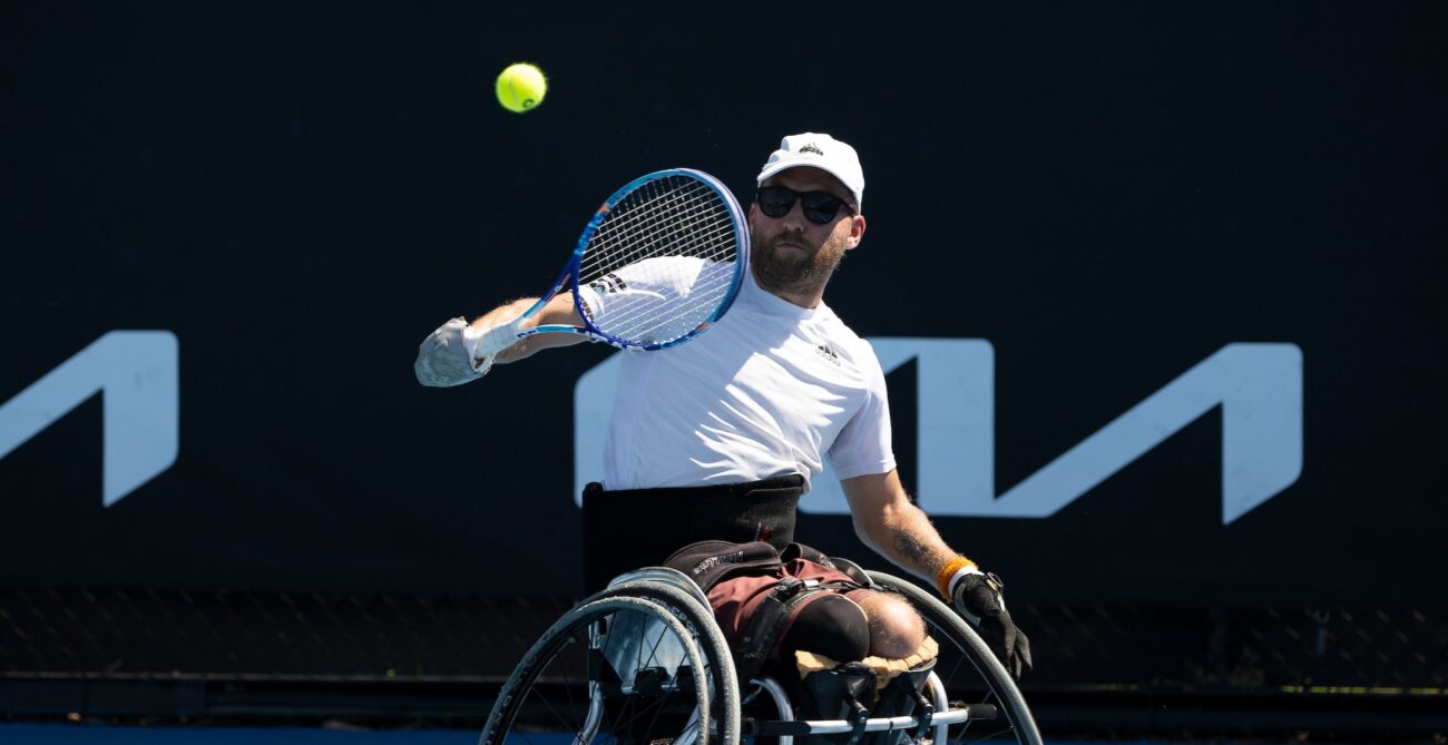
[[825, 706], [815, 697], [809, 707], [825, 716], [798, 719], [801, 702], [776, 678], [737, 677], [704, 592], [653, 567], [617, 576], [543, 634], [500, 691], [479, 745], [1041, 742], [1011, 676], [954, 610], [909, 582], [866, 574], [909, 600], [940, 648], [914, 684], [901, 683], [895, 697], [906, 703], [886, 716], [870, 710], [872, 684], [840, 689]]

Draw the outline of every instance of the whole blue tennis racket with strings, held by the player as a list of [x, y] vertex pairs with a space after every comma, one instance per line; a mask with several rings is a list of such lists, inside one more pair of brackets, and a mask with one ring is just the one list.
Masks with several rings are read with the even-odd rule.
[[[747, 265], [743, 211], [718, 179], [688, 168], [640, 176], [594, 213], [552, 288], [523, 315], [482, 334], [476, 356], [550, 331], [621, 349], [682, 344], [724, 317]], [[565, 289], [582, 325], [521, 328]]]

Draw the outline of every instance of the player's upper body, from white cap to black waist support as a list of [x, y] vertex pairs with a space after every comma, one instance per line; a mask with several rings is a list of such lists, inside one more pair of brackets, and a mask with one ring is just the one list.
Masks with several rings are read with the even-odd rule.
[[[752, 271], [728, 314], [686, 344], [623, 357], [604, 480], [589, 485], [584, 501], [585, 555], [611, 563], [586, 566], [588, 584], [660, 564], [695, 541], [765, 541], [783, 551], [794, 542], [795, 503], [830, 459], [860, 540], [935, 583], [1019, 676], [1031, 667], [1030, 644], [999, 579], [946, 545], [905, 493], [885, 373], [869, 343], [824, 302], [830, 276], [866, 230], [854, 149], [828, 135], [791, 135], [757, 185], [749, 208]], [[581, 288], [579, 299], [605, 314], [653, 289], [640, 281], [618, 272]], [[418, 380], [458, 385], [494, 363], [584, 340], [537, 334], [495, 357], [468, 353], [485, 330], [534, 299], [445, 324], [421, 346]], [[572, 295], [559, 294], [529, 323], [579, 324]], [[607, 541], [608, 550], [591, 550], [589, 541]]]

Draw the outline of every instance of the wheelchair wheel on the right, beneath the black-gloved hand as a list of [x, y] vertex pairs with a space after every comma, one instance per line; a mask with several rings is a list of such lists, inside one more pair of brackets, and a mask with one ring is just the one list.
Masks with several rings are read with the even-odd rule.
[[905, 596], [925, 619], [925, 629], [940, 642], [935, 674], [940, 676], [948, 694], [967, 703], [996, 707], [995, 719], [975, 719], [951, 728], [950, 745], [1011, 738], [1021, 745], [1040, 745], [1041, 733], [1015, 680], [960, 615], [940, 602], [934, 593], [911, 582], [882, 571], [867, 571], [867, 574], [882, 589]]

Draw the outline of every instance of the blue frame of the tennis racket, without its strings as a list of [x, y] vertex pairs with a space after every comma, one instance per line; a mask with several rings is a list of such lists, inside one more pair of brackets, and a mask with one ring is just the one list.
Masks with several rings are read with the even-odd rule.
[[[594, 324], [594, 321], [588, 318], [588, 314], [584, 312], [584, 301], [579, 299], [578, 297], [578, 271], [579, 266], [582, 265], [584, 253], [588, 250], [588, 242], [592, 240], [594, 233], [598, 231], [598, 227], [604, 224], [605, 218], [608, 218], [608, 214], [613, 211], [614, 205], [623, 201], [624, 197], [633, 194], [634, 190], [650, 181], [657, 181], [662, 178], [679, 176], [679, 175], [692, 178], [710, 187], [730, 207], [730, 213], [734, 220], [736, 244], [738, 246], [738, 259], [734, 260], [734, 276], [730, 282], [728, 294], [724, 297], [724, 301], [720, 302], [718, 308], [715, 308], [714, 312], [707, 320], [704, 320], [692, 331], [678, 339], [657, 344], [640, 344], [637, 341], [618, 339], [604, 331], [602, 328], [598, 328]], [[656, 171], [653, 174], [641, 175], [630, 181], [628, 184], [624, 184], [623, 187], [618, 188], [618, 191], [613, 192], [607, 200], [604, 200], [604, 204], [598, 207], [598, 211], [594, 213], [594, 217], [588, 221], [588, 226], [584, 227], [584, 233], [578, 237], [578, 246], [573, 249], [573, 256], [569, 259], [568, 265], [563, 266], [563, 271], [559, 272], [557, 279], [553, 281], [553, 289], [550, 289], [547, 295], [539, 298], [539, 301], [534, 302], [533, 307], [530, 307], [523, 314], [523, 318], [531, 317], [533, 314], [540, 311], [543, 305], [547, 304], [547, 301], [557, 297], [557, 294], [562, 292], [565, 286], [568, 286], [573, 292], [573, 310], [578, 312], [578, 317], [584, 320], [584, 328], [579, 328], [576, 325], [549, 324], [549, 325], [536, 325], [533, 328], [521, 330], [518, 331], [517, 336], [518, 339], [524, 339], [533, 334], [571, 331], [575, 334], [584, 334], [595, 341], [613, 344], [618, 349], [652, 352], [657, 349], [672, 347], [675, 344], [682, 344], [702, 334], [704, 331], [708, 330], [710, 325], [712, 325], [715, 321], [723, 318], [725, 312], [728, 312], [730, 307], [734, 305], [734, 298], [738, 297], [738, 288], [743, 286], [744, 272], [747, 271], [749, 271], [749, 226], [744, 224], [744, 210], [740, 208], [738, 201], [734, 198], [734, 194], [728, 190], [728, 187], [721, 184], [717, 178], [702, 171], [695, 171], [692, 168], [670, 168], [666, 171]]]

